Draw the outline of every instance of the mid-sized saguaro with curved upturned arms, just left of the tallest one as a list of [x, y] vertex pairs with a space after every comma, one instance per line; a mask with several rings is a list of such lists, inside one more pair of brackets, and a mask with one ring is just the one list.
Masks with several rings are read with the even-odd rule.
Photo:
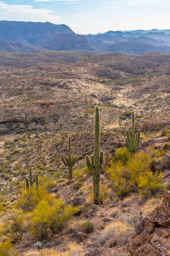
[[77, 160], [77, 156], [71, 155], [71, 139], [68, 137], [68, 154], [67, 156], [63, 156], [61, 154], [61, 158], [65, 166], [68, 166], [68, 179], [72, 179], [72, 167], [75, 165]]

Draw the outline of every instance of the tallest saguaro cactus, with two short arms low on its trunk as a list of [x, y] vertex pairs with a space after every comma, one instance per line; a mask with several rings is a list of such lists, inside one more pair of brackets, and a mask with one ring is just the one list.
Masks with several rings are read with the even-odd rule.
[[99, 182], [100, 182], [100, 169], [103, 164], [103, 151], [100, 151], [100, 116], [99, 107], [95, 108], [95, 145], [94, 145], [94, 155], [91, 155], [91, 162], [89, 156], [85, 156], [86, 165], [90, 172], [92, 172], [93, 181], [93, 194], [94, 203], [99, 202]]

